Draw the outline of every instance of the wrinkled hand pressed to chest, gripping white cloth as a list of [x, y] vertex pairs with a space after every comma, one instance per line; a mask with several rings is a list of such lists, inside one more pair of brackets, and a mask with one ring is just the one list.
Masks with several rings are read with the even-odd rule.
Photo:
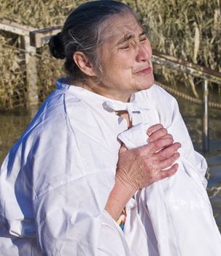
[[147, 145], [131, 150], [123, 145], [119, 152], [116, 178], [134, 190], [172, 176], [178, 168], [174, 162], [179, 158], [180, 143], [174, 143], [172, 135], [161, 124], [147, 129], [147, 135]]

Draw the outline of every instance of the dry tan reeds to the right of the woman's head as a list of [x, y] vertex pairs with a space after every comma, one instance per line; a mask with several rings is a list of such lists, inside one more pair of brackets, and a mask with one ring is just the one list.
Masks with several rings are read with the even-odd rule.
[[[152, 48], [221, 72], [220, 0], [136, 0], [142, 22], [147, 24]], [[182, 80], [198, 97], [198, 79], [157, 68], [169, 83]]]

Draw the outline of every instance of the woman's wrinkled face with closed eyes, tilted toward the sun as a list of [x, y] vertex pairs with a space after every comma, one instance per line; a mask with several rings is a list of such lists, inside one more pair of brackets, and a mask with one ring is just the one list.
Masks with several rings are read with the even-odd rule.
[[128, 101], [131, 94], [154, 83], [150, 42], [129, 12], [112, 16], [102, 29], [100, 61], [104, 75], [94, 91]]

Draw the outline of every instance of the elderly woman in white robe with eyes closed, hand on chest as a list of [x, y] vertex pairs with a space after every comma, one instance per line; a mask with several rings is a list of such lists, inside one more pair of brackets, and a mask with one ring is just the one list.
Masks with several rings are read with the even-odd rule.
[[[153, 85], [150, 42], [131, 8], [80, 5], [50, 51], [69, 76], [1, 167], [1, 255], [221, 255], [204, 159], [175, 99]], [[182, 212], [203, 217], [185, 228]]]

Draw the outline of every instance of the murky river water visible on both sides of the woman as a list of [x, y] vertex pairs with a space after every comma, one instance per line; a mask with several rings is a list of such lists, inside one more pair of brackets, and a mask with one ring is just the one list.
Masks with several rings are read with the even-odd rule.
[[[201, 106], [183, 99], [178, 98], [177, 100], [195, 149], [201, 152]], [[12, 112], [0, 112], [0, 164], [35, 113], [36, 108], [31, 108], [28, 111], [20, 109]], [[210, 152], [204, 154], [209, 164], [206, 176], [209, 179], [207, 192], [212, 203], [214, 217], [221, 231], [221, 110], [209, 109], [209, 135]]]

